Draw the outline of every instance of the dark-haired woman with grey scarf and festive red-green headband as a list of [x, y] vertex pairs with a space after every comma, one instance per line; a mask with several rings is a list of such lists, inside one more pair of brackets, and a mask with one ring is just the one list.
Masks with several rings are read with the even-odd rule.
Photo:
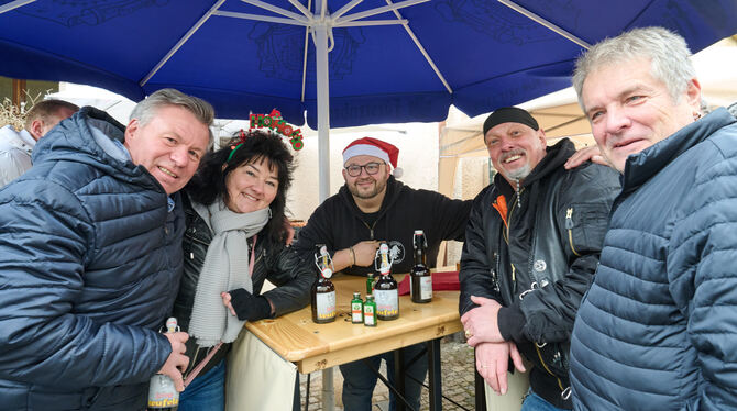
[[[289, 149], [263, 131], [239, 137], [208, 154], [184, 190], [185, 268], [174, 316], [191, 336], [187, 380], [204, 368], [182, 392], [179, 411], [223, 410], [226, 355], [243, 323], [306, 307], [315, 280], [285, 245]], [[261, 293], [266, 279], [276, 288]]]

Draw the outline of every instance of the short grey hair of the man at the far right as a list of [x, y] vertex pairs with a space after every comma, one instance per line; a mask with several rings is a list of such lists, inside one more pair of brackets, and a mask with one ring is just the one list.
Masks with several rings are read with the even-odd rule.
[[685, 40], [663, 27], [634, 29], [614, 38], [595, 44], [575, 62], [573, 88], [579, 104], [585, 111], [581, 91], [586, 77], [594, 70], [637, 58], [650, 59], [650, 74], [666, 84], [671, 98], [680, 102], [689, 81], [696, 77]]

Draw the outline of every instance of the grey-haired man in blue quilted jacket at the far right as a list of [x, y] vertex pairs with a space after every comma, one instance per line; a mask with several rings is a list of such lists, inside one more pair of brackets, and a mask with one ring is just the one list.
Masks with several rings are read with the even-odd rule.
[[737, 409], [737, 120], [702, 118], [685, 41], [636, 29], [576, 63], [623, 174], [571, 341], [578, 410]]

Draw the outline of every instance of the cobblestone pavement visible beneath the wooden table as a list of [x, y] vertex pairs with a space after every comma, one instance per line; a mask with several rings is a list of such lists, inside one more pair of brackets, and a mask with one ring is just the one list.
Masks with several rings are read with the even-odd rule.
[[[443, 399], [442, 409], [448, 411], [454, 410], [473, 410], [475, 393], [473, 387], [473, 348], [465, 344], [465, 340], [461, 333], [449, 335], [440, 341], [440, 360], [442, 369], [442, 393], [452, 401], [455, 401], [461, 407], [453, 404], [448, 399]], [[382, 363], [383, 375], [386, 375], [386, 366]], [[308, 410], [322, 410], [322, 373], [312, 373], [310, 377], [310, 397]], [[340, 370], [336, 367], [333, 371], [333, 387], [336, 390], [336, 410], [343, 410], [341, 402], [341, 389], [343, 386], [343, 378]], [[301, 410], [305, 409], [305, 395], [307, 388], [307, 376], [300, 376], [301, 382]], [[429, 381], [426, 378], [425, 384]], [[389, 392], [386, 386], [380, 380], [374, 389], [374, 397], [372, 403], [373, 410], [388, 411]], [[428, 391], [422, 390], [421, 410], [429, 410]]]

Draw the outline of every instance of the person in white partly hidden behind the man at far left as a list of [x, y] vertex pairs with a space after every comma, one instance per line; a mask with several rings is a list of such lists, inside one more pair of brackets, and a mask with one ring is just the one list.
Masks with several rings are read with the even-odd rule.
[[20, 132], [10, 124], [0, 129], [0, 188], [28, 171], [36, 142], [78, 110], [77, 105], [64, 100], [44, 100], [29, 110], [25, 127]]

